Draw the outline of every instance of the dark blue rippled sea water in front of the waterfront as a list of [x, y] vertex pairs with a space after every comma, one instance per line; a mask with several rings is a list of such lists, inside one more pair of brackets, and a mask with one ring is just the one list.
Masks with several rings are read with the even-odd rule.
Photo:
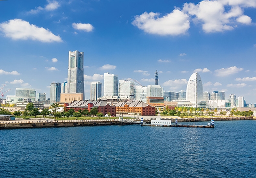
[[0, 130], [0, 178], [171, 177], [256, 177], [256, 120]]

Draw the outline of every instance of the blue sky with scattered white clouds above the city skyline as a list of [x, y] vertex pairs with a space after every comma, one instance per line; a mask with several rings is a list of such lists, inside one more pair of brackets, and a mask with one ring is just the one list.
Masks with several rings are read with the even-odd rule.
[[85, 99], [105, 72], [147, 86], [158, 70], [164, 90], [186, 90], [197, 71], [204, 91], [256, 103], [256, 0], [0, 1], [0, 50], [5, 95], [22, 87], [49, 98], [79, 50]]

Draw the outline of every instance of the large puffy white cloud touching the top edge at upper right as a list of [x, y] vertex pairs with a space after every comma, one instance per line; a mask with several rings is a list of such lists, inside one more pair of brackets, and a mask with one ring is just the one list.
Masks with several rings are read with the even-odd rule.
[[202, 0], [198, 4], [185, 3], [182, 12], [190, 15], [195, 23], [201, 23], [206, 33], [223, 32], [233, 30], [239, 23], [251, 24], [252, 19], [243, 14], [243, 8], [255, 5], [245, 1]]

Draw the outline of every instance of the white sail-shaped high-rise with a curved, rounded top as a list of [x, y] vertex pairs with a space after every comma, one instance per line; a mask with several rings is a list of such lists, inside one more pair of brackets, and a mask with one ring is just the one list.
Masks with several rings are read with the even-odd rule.
[[186, 100], [195, 103], [195, 107], [198, 105], [198, 101], [203, 101], [203, 84], [199, 73], [193, 73], [187, 85]]

